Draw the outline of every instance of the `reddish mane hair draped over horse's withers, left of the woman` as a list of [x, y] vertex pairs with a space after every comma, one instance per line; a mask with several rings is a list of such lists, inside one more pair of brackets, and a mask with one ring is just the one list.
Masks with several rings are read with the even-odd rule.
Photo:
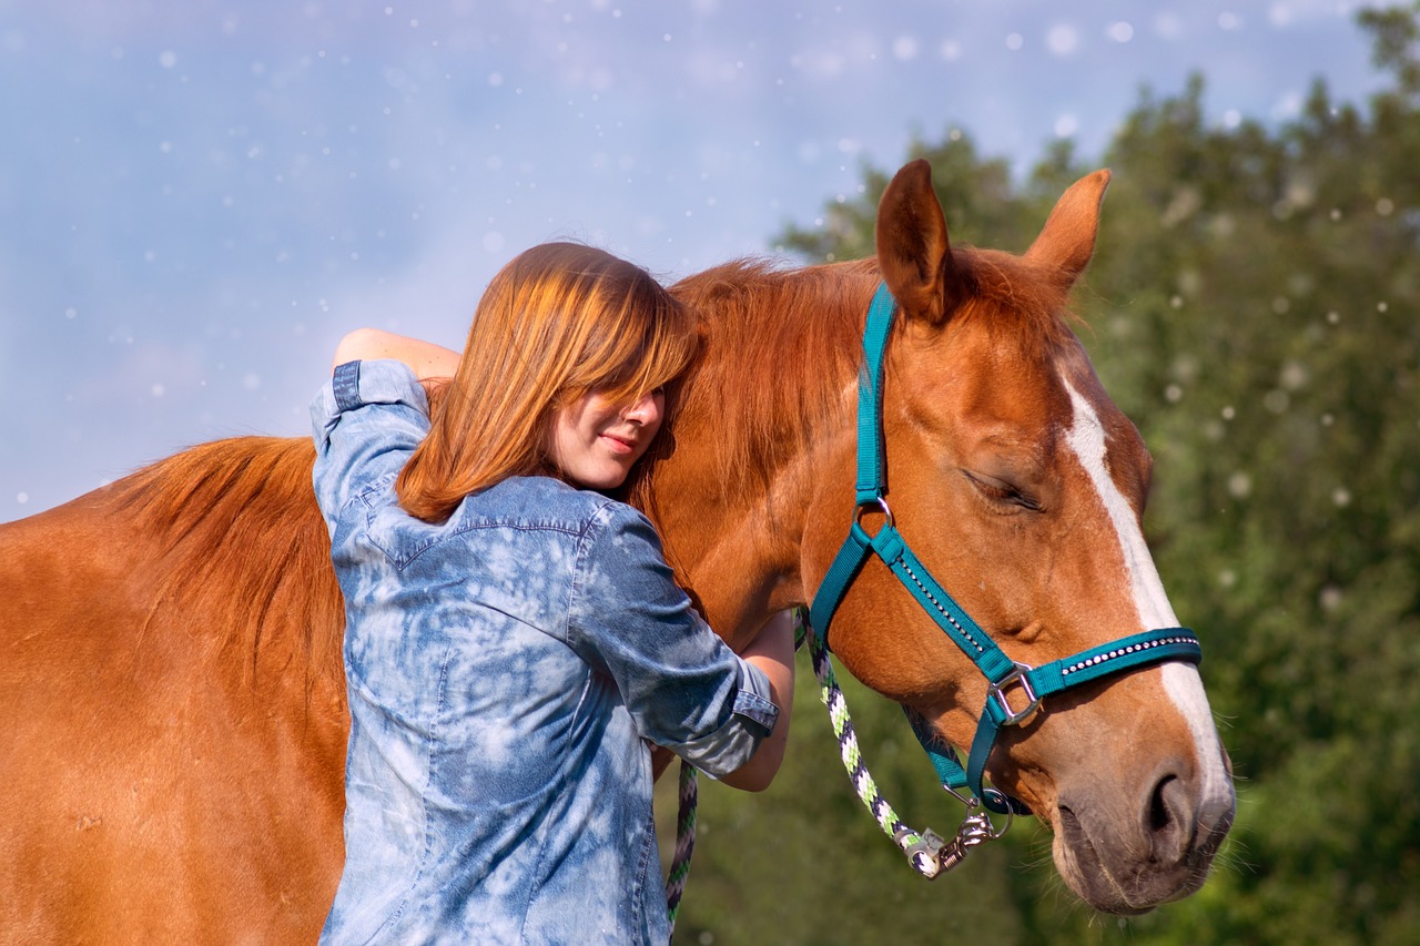
[[[202, 615], [193, 628], [214, 649], [239, 648], [254, 686], [290, 663], [315, 680], [342, 680], [344, 601], [329, 535], [311, 489], [315, 450], [305, 437], [203, 443], [108, 487], [159, 548], [146, 568], [148, 626]], [[214, 624], [212, 624], [214, 622]], [[290, 629], [294, 628], [293, 635]], [[318, 635], [337, 635], [335, 646]]]

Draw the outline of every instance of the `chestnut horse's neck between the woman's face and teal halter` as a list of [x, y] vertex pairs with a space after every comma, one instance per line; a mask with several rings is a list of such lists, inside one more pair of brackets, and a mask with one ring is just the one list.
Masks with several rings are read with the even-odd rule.
[[808, 509], [835, 473], [824, 467], [829, 446], [852, 429], [862, 320], [878, 278], [872, 261], [733, 263], [674, 287], [701, 315], [703, 348], [632, 501], [731, 643], [805, 601]]

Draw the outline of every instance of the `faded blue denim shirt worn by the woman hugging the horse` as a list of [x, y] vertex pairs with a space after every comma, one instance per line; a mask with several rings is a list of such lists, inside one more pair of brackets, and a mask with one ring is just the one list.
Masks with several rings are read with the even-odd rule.
[[629, 506], [513, 477], [408, 516], [429, 419], [402, 364], [341, 365], [311, 415], [351, 707], [322, 942], [665, 943], [643, 740], [733, 771], [778, 716], [764, 675]]

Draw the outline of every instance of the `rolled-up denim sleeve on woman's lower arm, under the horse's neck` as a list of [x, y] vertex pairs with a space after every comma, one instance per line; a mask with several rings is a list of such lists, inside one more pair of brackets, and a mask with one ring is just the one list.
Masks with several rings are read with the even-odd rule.
[[621, 690], [640, 734], [723, 777], [778, 720], [764, 673], [696, 615], [655, 527], [608, 503], [579, 548], [568, 643]]

